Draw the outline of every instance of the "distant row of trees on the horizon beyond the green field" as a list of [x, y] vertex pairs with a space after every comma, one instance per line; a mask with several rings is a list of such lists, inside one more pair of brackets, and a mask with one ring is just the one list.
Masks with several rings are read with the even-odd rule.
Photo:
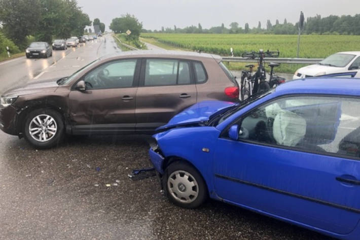
[[[248, 23], [244, 27], [240, 27], [238, 22], [232, 22], [229, 28], [225, 27], [224, 23], [220, 26], [214, 26], [209, 29], [203, 29], [201, 24], [198, 26], [187, 26], [185, 28], [161, 27], [161, 30], [147, 30], [142, 29], [142, 32], [178, 32], [178, 33], [269, 33], [269, 34], [285, 34], [291, 35], [298, 32], [298, 22], [293, 24], [287, 22], [286, 18], [282, 23], [279, 20], [275, 21], [273, 25], [270, 20], [267, 20], [265, 28], [262, 27], [259, 21], [257, 27], [250, 28]], [[321, 18], [320, 15], [315, 17], [308, 17], [304, 24], [305, 34], [321, 34], [321, 35], [360, 35], [360, 14], [354, 16], [343, 15], [341, 17], [330, 15]]]

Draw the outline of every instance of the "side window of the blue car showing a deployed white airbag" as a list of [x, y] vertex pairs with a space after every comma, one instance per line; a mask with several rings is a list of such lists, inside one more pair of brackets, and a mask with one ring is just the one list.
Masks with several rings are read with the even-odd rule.
[[248, 113], [239, 141], [360, 158], [360, 99], [291, 96]]

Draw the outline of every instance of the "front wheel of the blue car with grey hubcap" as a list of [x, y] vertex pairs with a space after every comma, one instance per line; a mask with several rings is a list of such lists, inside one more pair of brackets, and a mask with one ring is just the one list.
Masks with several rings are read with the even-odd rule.
[[166, 168], [162, 184], [166, 196], [179, 207], [197, 208], [207, 198], [203, 178], [193, 166], [184, 161], [175, 161]]

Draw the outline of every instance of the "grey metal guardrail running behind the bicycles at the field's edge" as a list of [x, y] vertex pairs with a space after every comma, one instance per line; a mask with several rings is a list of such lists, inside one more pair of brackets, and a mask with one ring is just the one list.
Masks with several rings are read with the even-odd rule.
[[[323, 60], [323, 58], [283, 58], [283, 57], [266, 57], [266, 62], [276, 63], [300, 63], [300, 64], [315, 64]], [[226, 62], [258, 62], [258, 59], [248, 59], [246, 57], [223, 57], [222, 61]]]

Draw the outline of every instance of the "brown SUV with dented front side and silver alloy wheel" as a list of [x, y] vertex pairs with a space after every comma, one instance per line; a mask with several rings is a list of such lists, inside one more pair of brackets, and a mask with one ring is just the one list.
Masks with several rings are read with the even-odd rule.
[[198, 101], [238, 101], [238, 84], [221, 60], [180, 51], [99, 58], [70, 77], [7, 91], [0, 128], [37, 148], [58, 144], [65, 133], [152, 133]]

